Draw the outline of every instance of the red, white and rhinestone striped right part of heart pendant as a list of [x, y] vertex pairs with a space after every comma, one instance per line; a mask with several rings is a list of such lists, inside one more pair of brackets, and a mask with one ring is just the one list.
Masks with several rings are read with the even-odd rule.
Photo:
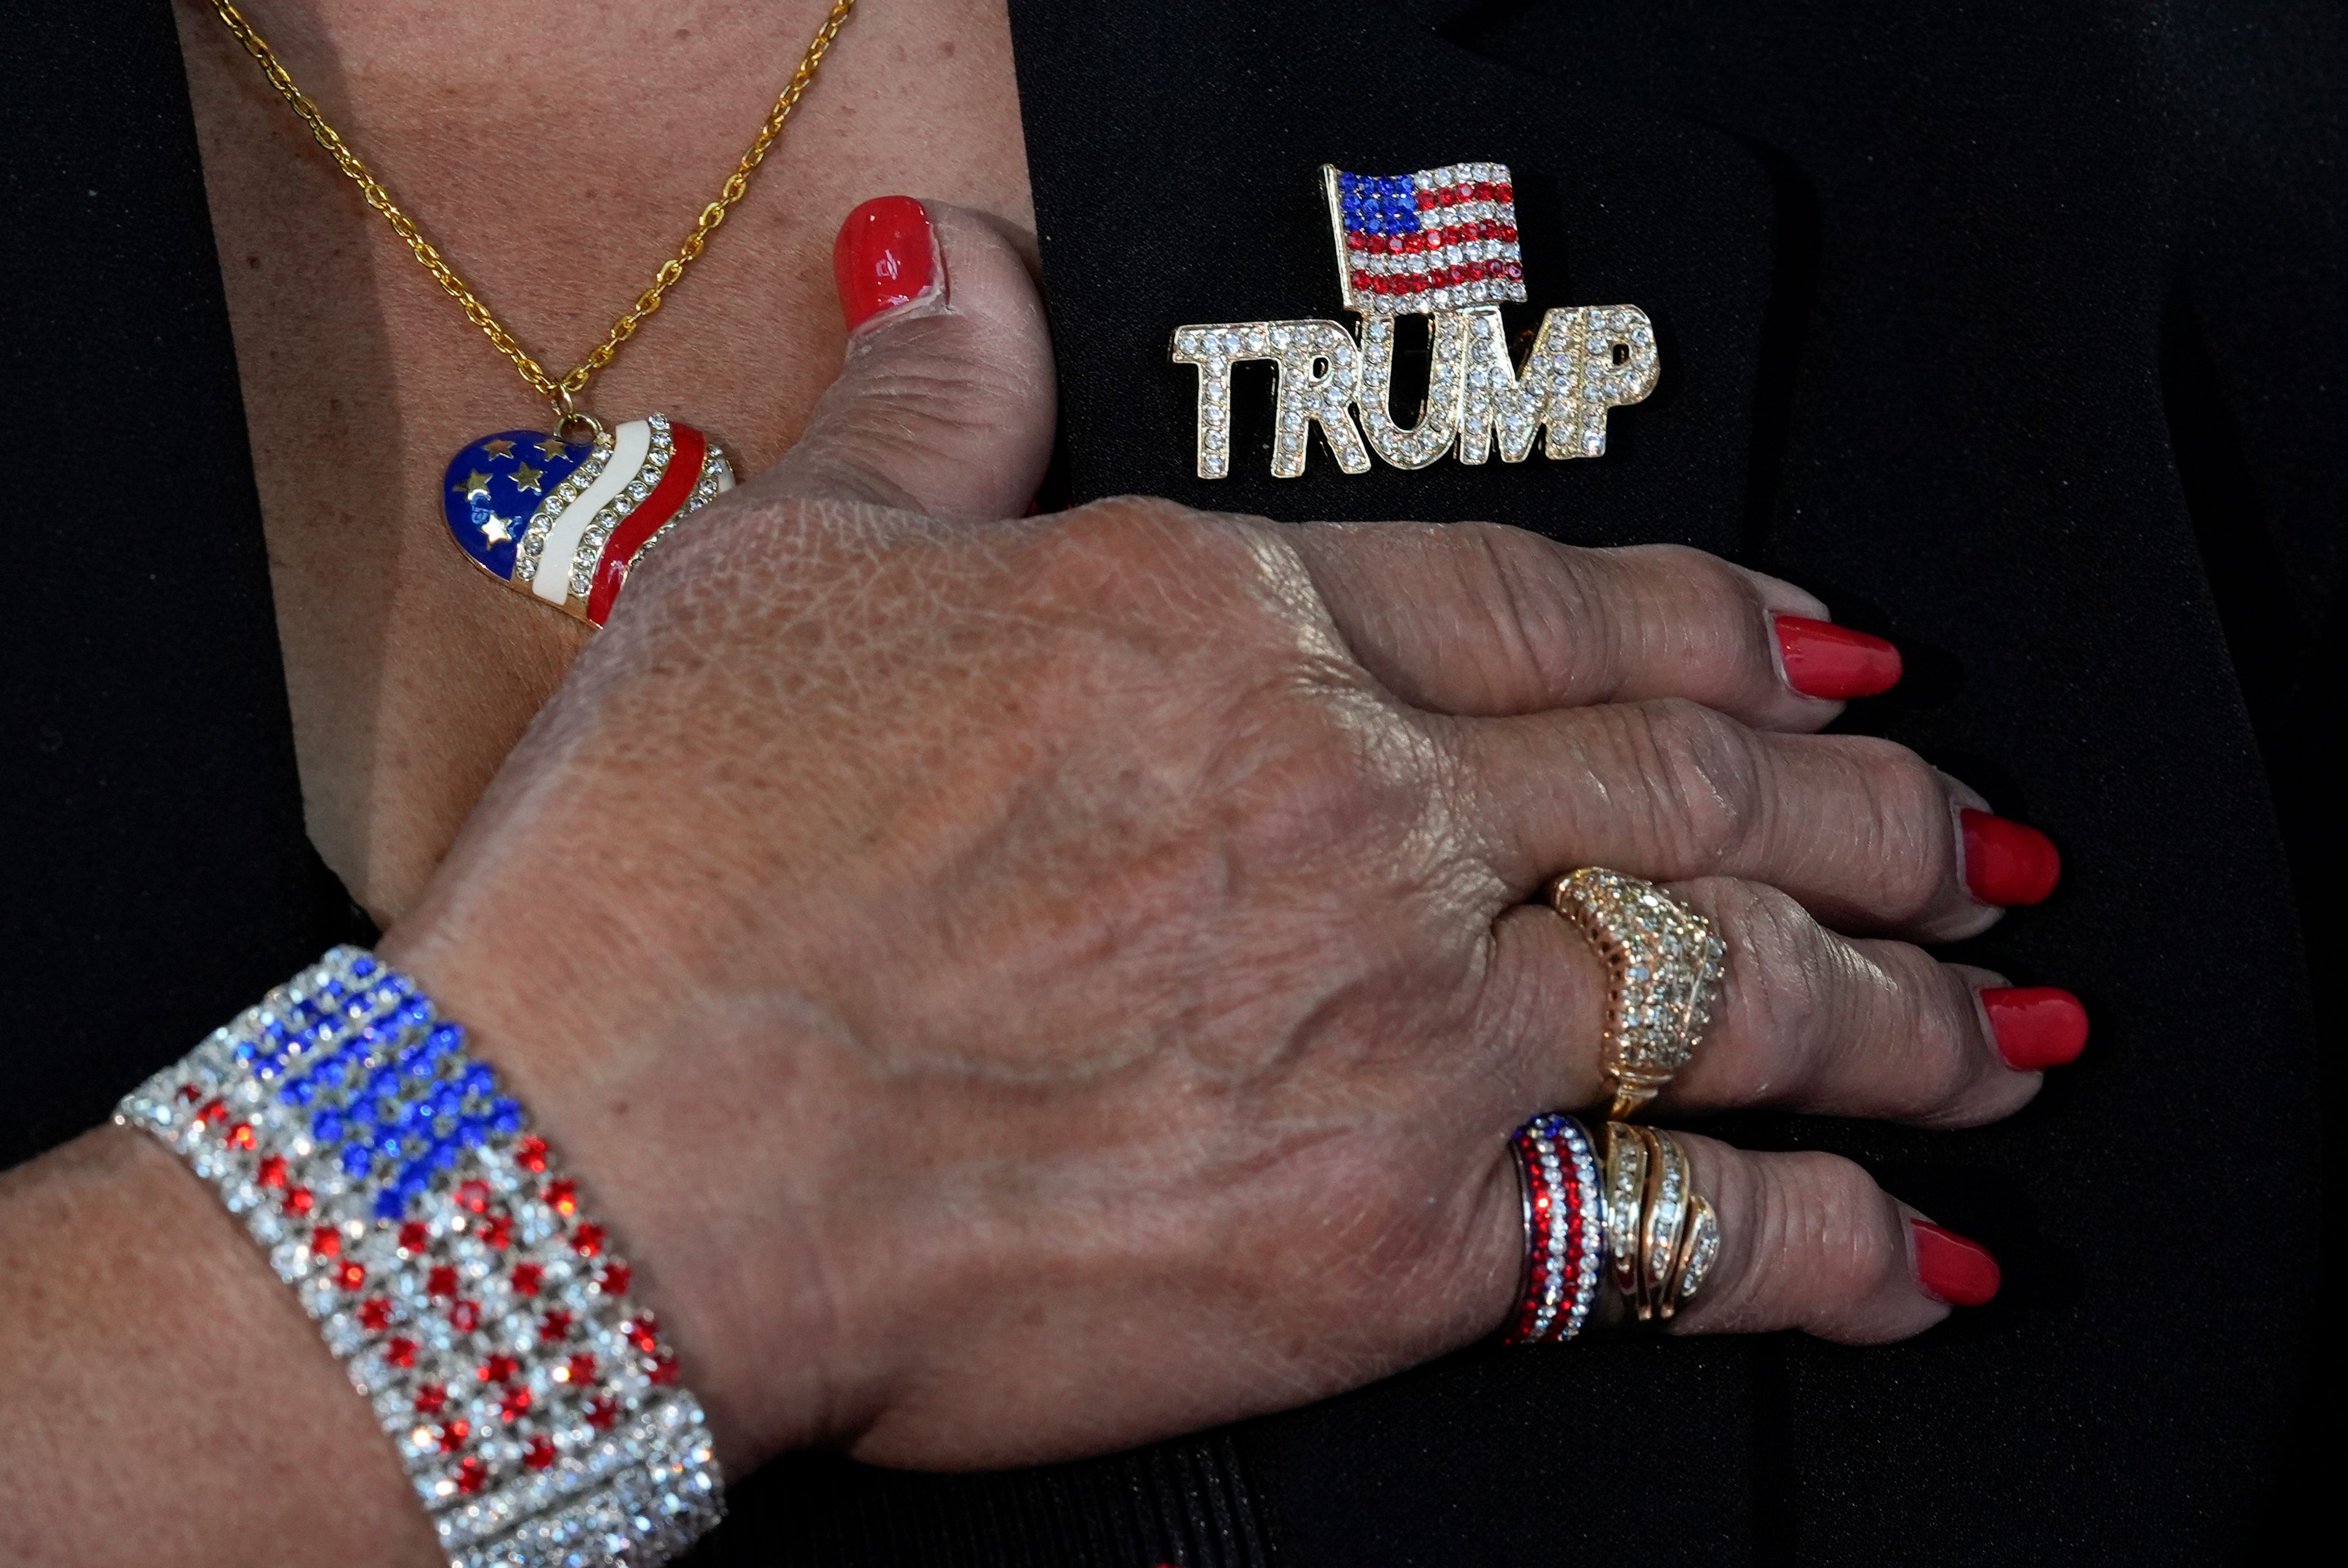
[[[669, 437], [667, 451], [655, 451], [655, 427]], [[627, 420], [610, 437], [613, 446], [603, 472], [554, 514], [531, 573], [531, 592], [538, 599], [568, 608], [573, 615], [580, 613], [580, 599], [585, 599], [585, 617], [596, 627], [610, 615], [636, 552], [676, 516], [735, 484], [726, 455], [709, 446], [709, 437], [681, 420], [660, 415]], [[608, 535], [601, 549], [592, 552], [589, 582], [580, 594], [575, 589], [580, 566], [587, 563], [582, 556], [589, 554], [587, 538], [606, 512], [610, 514]]]

